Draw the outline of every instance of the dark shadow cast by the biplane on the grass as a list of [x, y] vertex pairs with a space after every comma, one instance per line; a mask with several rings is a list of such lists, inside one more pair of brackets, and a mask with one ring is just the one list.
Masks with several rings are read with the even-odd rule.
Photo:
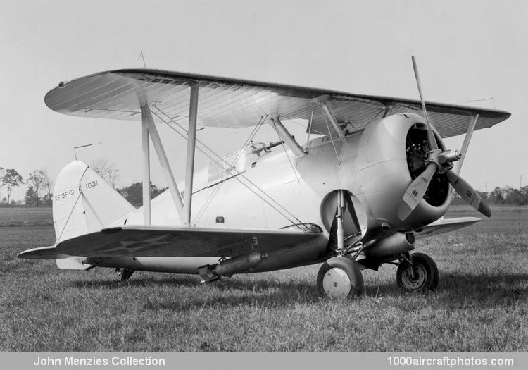
[[[439, 309], [456, 309], [460, 307], [508, 307], [528, 294], [528, 273], [513, 273], [501, 276], [482, 276], [465, 274], [448, 274], [442, 276], [442, 283], [432, 292], [415, 293], [403, 292], [396, 287], [394, 281], [383, 282], [377, 285], [375, 279], [367, 280], [365, 284], [365, 297], [362, 299], [375, 299], [379, 301], [398, 299], [403, 297], [407, 304], [408, 298], [413, 295], [420, 296], [422, 304], [429, 305], [434, 301], [434, 306]], [[196, 277], [175, 276], [171, 278], [136, 278], [126, 282], [115, 280], [79, 280], [74, 283], [77, 287], [99, 289], [120, 289], [123, 285], [134, 287], [186, 287], [197, 288]], [[203, 289], [206, 288], [206, 289]], [[189, 302], [178, 302], [175, 297], [156, 297], [156, 300], [146, 299], [146, 309], [172, 309], [175, 311], [193, 310], [203, 307], [204, 304], [222, 307], [240, 307], [244, 305], [265, 305], [271, 307], [289, 307], [295, 303], [306, 304], [320, 302], [321, 298], [312, 283], [287, 282], [277, 280], [242, 280], [223, 279], [209, 283], [203, 289], [203, 294], [196, 294], [196, 298]], [[211, 297], [210, 289], [220, 290]], [[225, 294], [224, 294], [225, 292]], [[446, 299], [448, 297], [448, 299]], [[160, 299], [161, 298], [161, 299]], [[360, 300], [358, 302], [360, 302]], [[205, 302], [205, 303], [204, 303]], [[350, 304], [354, 304], [351, 301]], [[412, 304], [411, 304], [412, 305]]]

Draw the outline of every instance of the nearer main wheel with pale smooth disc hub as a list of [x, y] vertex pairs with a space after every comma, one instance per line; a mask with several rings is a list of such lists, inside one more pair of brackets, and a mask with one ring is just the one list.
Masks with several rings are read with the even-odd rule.
[[363, 293], [363, 275], [355, 261], [332, 257], [322, 264], [318, 273], [318, 290], [322, 297], [343, 300]]

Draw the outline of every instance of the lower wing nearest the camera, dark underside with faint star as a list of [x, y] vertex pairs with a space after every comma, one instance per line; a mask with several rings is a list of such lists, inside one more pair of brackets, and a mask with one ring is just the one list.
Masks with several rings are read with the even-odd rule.
[[161, 228], [123, 226], [80, 235], [58, 243], [55, 250], [30, 249], [20, 258], [86, 257], [234, 257], [270, 252], [321, 235], [302, 230]]

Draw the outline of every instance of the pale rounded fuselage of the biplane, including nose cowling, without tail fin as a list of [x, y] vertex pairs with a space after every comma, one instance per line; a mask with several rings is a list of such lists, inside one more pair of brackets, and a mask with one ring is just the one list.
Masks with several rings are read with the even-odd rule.
[[[374, 121], [365, 130], [352, 132], [344, 140], [318, 137], [311, 140], [305, 156], [296, 157], [286, 147], [264, 149], [251, 144], [225, 160], [210, 164], [194, 176], [191, 223], [215, 228], [287, 228], [312, 223], [322, 229], [322, 238], [297, 246], [289, 255], [268, 259], [255, 271], [311, 264], [329, 249], [335, 207], [332, 194], [346, 190], [353, 201], [363, 241], [382, 240], [399, 231], [415, 230], [444, 215], [451, 192], [433, 204], [422, 199], [410, 217], [401, 221], [396, 209], [413, 180], [409, 172], [410, 132], [422, 130], [423, 118], [397, 114]], [[441, 140], [439, 140], [441, 144]], [[234, 171], [225, 168], [234, 167]], [[183, 183], [179, 184], [182, 190]], [[128, 214], [114, 226], [141, 225], [143, 209]], [[151, 202], [151, 223], [181, 226], [170, 191]], [[346, 228], [347, 230], [347, 228]], [[346, 237], [347, 235], [345, 235]], [[106, 259], [99, 266], [137, 270], [196, 273], [198, 266], [214, 264], [218, 258], [137, 257]]]

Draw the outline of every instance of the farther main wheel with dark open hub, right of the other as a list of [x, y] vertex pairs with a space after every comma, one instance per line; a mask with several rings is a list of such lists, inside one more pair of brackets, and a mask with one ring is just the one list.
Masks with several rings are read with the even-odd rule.
[[396, 271], [396, 283], [398, 287], [408, 292], [423, 292], [434, 290], [438, 286], [438, 267], [433, 259], [427, 254], [413, 253], [413, 264], [415, 276], [413, 278], [413, 266], [408, 262], [402, 262]]

